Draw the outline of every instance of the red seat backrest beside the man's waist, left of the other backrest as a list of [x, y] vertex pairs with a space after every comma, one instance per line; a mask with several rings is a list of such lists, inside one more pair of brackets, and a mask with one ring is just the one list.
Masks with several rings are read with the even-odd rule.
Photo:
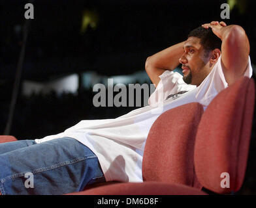
[[144, 181], [202, 187], [195, 177], [193, 153], [197, 126], [203, 112], [199, 103], [188, 103], [167, 110], [155, 120], [144, 149]]

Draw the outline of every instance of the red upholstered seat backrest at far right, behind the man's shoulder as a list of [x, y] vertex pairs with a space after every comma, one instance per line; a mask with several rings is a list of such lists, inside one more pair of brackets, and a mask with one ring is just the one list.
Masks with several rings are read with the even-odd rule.
[[242, 186], [254, 105], [254, 81], [241, 77], [221, 91], [202, 115], [195, 142], [195, 171], [205, 188], [225, 194]]

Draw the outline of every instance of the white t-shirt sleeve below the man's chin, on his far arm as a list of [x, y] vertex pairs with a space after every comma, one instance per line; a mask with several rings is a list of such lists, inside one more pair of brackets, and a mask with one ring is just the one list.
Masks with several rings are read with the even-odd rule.
[[166, 70], [160, 76], [160, 81], [155, 91], [148, 99], [149, 105], [163, 103], [170, 94], [177, 94], [181, 91], [190, 91], [196, 88], [195, 85], [187, 85], [183, 76], [178, 72]]

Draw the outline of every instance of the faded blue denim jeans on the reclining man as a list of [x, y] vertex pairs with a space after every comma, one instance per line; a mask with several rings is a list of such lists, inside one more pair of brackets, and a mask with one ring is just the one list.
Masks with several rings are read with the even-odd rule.
[[97, 156], [74, 138], [0, 144], [1, 194], [67, 194], [106, 181]]

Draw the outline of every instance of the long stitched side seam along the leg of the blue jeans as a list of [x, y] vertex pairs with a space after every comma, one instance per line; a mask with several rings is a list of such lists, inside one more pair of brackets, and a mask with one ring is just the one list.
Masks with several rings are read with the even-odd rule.
[[[59, 162], [57, 164], [53, 164], [51, 166], [48, 166], [48, 167], [44, 167], [44, 168], [37, 168], [35, 170], [32, 170], [31, 173], [32, 174], [38, 174], [40, 172], [45, 172], [45, 171], [48, 171], [48, 170], [53, 170], [53, 169], [56, 169], [56, 168], [60, 168], [62, 166], [65, 166], [65, 165], [68, 165], [68, 164], [74, 164], [76, 162], [80, 162], [80, 161], [85, 161], [87, 159], [95, 159], [97, 158], [96, 155], [91, 155], [91, 156], [87, 156], [87, 157], [78, 157], [76, 159], [72, 159], [71, 161], [65, 161], [65, 162]], [[27, 171], [29, 172], [29, 171]], [[3, 187], [3, 183], [7, 182], [7, 181], [10, 181], [12, 179], [16, 179], [17, 177], [22, 177], [24, 176], [27, 172], [21, 172], [21, 173], [18, 173], [18, 174], [12, 174], [12, 175], [8, 175], [7, 177], [4, 177], [3, 179], [1, 179], [1, 185], [0, 185], [0, 190], [1, 190], [1, 187]], [[2, 193], [3, 194], [3, 193]]]

